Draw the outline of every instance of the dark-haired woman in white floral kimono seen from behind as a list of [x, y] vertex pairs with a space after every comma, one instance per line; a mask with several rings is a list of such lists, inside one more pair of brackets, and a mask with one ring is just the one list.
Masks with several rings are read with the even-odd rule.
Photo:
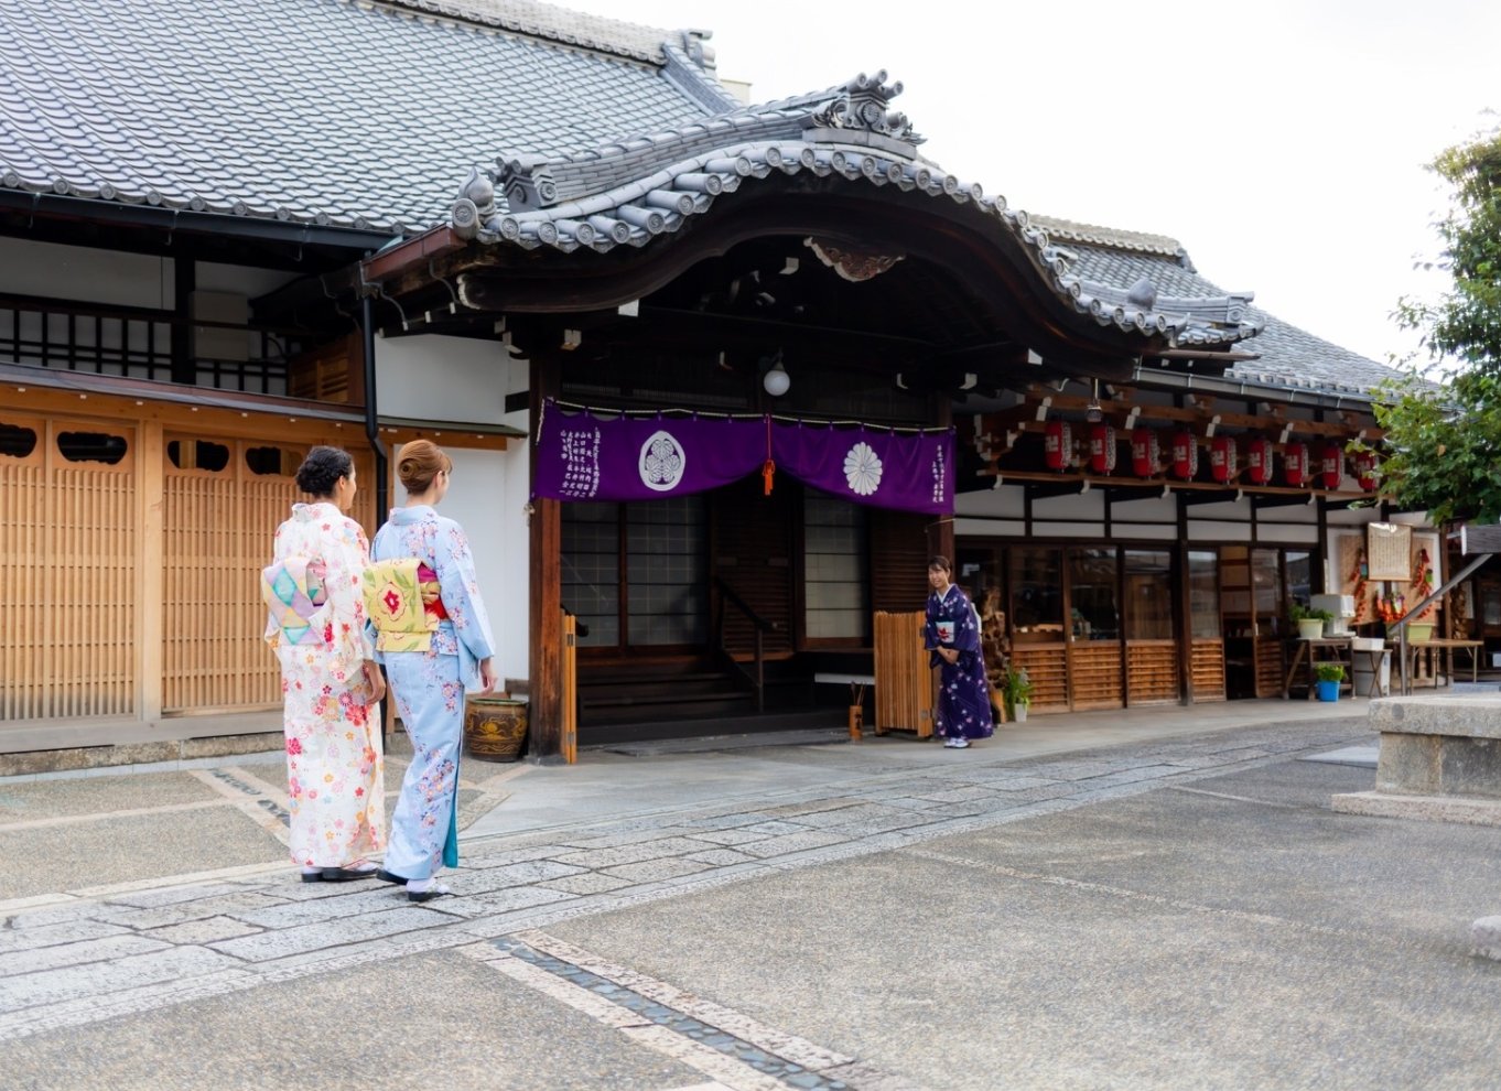
[[261, 573], [266, 639], [282, 669], [291, 857], [303, 882], [371, 878], [386, 846], [380, 717], [386, 684], [365, 629], [362, 582], [369, 546], [344, 515], [354, 461], [314, 447], [297, 470], [312, 495], [276, 528], [275, 563]]

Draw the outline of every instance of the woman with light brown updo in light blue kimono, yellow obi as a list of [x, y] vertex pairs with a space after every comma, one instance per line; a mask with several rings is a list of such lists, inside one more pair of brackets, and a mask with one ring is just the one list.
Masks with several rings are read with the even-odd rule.
[[396, 474], [407, 504], [393, 509], [375, 534], [365, 584], [377, 657], [413, 750], [378, 878], [405, 884], [413, 902], [452, 893], [434, 875], [459, 860], [464, 693], [495, 686], [495, 641], [468, 540], [453, 519], [434, 510], [452, 470], [452, 459], [428, 440], [401, 449]]

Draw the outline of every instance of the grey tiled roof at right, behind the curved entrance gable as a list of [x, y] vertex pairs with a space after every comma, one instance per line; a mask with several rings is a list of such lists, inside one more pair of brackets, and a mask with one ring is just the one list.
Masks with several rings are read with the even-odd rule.
[[[1067, 248], [1070, 266], [1097, 284], [1117, 288], [1148, 281], [1174, 296], [1225, 296], [1213, 282], [1193, 272], [1187, 255], [1165, 257], [1127, 246], [1073, 245]], [[1246, 299], [1250, 294], [1246, 293]], [[1234, 365], [1226, 375], [1265, 386], [1292, 386], [1316, 390], [1366, 395], [1397, 372], [1348, 348], [1316, 338], [1307, 330], [1282, 321], [1259, 308], [1246, 309], [1249, 320], [1261, 323], [1261, 333], [1243, 348], [1258, 360]]]

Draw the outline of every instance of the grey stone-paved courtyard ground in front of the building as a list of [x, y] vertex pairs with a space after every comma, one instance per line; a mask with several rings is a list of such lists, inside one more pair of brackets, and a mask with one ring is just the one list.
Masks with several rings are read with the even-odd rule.
[[[243, 849], [102, 884], [111, 839], [81, 782], [0, 782], [0, 806], [57, 794], [50, 818], [77, 819], [0, 810], [8, 870], [89, 831], [72, 879], [0, 903], [0, 1070], [26, 1088], [1493, 1088], [1501, 966], [1465, 948], [1501, 894], [1492, 836], [1334, 815], [1372, 770], [1295, 758], [1369, 744], [1358, 711], [1057, 717], [959, 753], [468, 762], [459, 894], [425, 905], [270, 863], [275, 765], [207, 774], [257, 792], [228, 816], [263, 861], [204, 821], [225, 806], [185, 783], [230, 798], [204, 770], [101, 779], [120, 783], [111, 825], [150, 819], [131, 843], [176, 824], [179, 851]], [[147, 803], [147, 780], [179, 792]]]

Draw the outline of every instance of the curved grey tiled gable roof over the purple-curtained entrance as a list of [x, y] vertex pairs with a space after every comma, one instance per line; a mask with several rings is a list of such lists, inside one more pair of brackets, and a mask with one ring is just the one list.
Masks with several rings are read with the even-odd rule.
[[[501, 156], [492, 174], [476, 171], [453, 206], [453, 228], [491, 245], [558, 251], [644, 246], [681, 228], [720, 197], [775, 174], [811, 171], [857, 185], [890, 186], [916, 198], [949, 200], [1001, 225], [1042, 281], [1079, 314], [1124, 332], [1166, 335], [1177, 345], [1226, 345], [1259, 329], [1250, 296], [1160, 296], [1081, 276], [1028, 215], [988, 197], [917, 153], [907, 117], [889, 110], [901, 84], [886, 72], [859, 75], [827, 92], [740, 108], [588, 152]], [[1079, 225], [1049, 221], [1067, 236]], [[1100, 228], [1093, 228], [1099, 233]], [[1124, 239], [1129, 233], [1114, 233]], [[1160, 236], [1130, 236], [1142, 252], [1180, 255]], [[459, 288], [462, 294], [462, 285]]]

